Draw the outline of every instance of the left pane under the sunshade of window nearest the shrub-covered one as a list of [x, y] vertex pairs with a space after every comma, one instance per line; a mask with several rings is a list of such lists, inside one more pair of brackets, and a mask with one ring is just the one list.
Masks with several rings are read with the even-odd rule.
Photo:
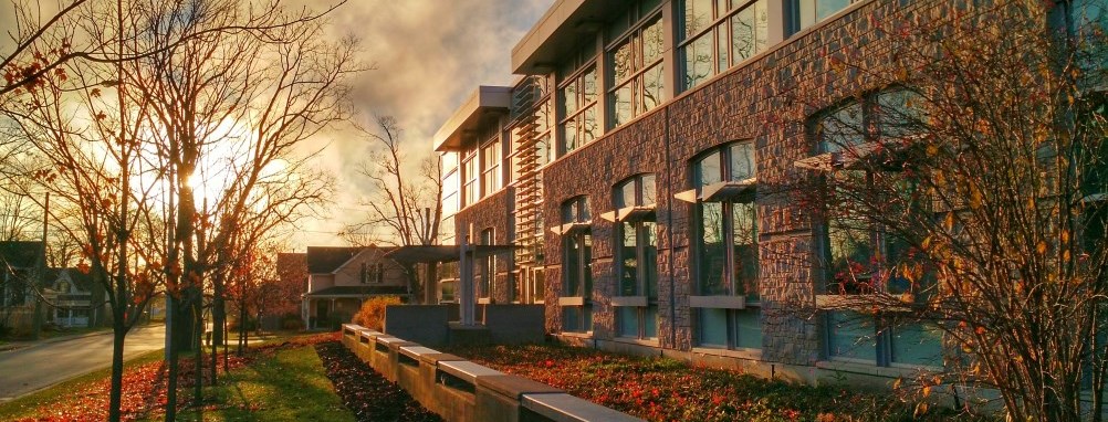
[[700, 209], [700, 295], [728, 295], [730, 280], [725, 272], [724, 206], [720, 203], [701, 203]]

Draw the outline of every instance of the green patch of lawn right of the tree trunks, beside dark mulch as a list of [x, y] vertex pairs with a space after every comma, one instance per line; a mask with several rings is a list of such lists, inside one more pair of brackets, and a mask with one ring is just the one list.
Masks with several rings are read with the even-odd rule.
[[[205, 389], [202, 412], [185, 409], [182, 421], [353, 421], [311, 346], [280, 349], [232, 371]], [[153, 420], [160, 420], [153, 419]]]

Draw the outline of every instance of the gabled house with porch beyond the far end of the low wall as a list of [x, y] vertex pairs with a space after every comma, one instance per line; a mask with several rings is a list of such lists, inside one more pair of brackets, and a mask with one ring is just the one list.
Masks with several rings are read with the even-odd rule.
[[308, 286], [301, 302], [305, 327], [337, 328], [349, 322], [362, 301], [411, 294], [404, 268], [384, 258], [387, 247], [308, 247]]

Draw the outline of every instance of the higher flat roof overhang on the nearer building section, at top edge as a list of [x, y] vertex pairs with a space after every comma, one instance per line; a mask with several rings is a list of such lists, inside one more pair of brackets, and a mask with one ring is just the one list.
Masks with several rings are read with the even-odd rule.
[[557, 0], [512, 49], [512, 73], [546, 74], [577, 49], [583, 34], [604, 29], [628, 1]]

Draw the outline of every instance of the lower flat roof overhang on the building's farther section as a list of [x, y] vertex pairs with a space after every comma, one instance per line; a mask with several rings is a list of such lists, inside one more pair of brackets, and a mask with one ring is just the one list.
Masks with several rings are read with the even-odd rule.
[[434, 151], [459, 151], [466, 135], [474, 133], [485, 120], [506, 114], [512, 106], [510, 86], [478, 86], [462, 106], [434, 133]]

